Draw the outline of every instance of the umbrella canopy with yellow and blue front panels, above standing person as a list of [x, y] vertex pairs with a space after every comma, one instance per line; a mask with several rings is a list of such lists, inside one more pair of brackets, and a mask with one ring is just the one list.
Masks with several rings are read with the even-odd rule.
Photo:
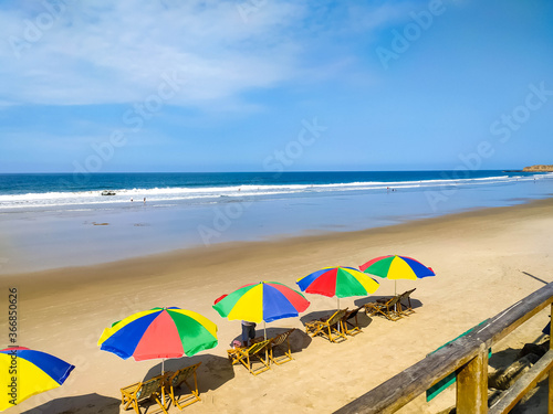
[[260, 282], [240, 287], [215, 301], [213, 309], [229, 320], [242, 319], [259, 323], [292, 318], [310, 302], [299, 291], [276, 282]]

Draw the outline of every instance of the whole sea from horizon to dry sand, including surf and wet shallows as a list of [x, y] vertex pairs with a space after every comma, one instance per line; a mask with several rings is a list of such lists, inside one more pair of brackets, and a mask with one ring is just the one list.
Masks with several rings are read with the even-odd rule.
[[363, 230], [552, 194], [553, 173], [501, 170], [0, 174], [0, 274]]

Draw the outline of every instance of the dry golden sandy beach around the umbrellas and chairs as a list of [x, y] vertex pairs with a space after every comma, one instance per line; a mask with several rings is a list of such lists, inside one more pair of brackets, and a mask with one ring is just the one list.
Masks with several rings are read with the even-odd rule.
[[[362, 232], [229, 243], [2, 276], [2, 286], [15, 286], [20, 295], [19, 346], [76, 365], [63, 386], [8, 412], [118, 413], [119, 389], [158, 374], [161, 361], [124, 361], [98, 349], [100, 335], [133, 312], [177, 306], [200, 312], [219, 327], [217, 348], [165, 363], [166, 369], [175, 370], [201, 362], [198, 383], [202, 401], [185, 412], [331, 413], [552, 282], [552, 211], [553, 199], [549, 199]], [[219, 317], [211, 308], [217, 297], [260, 280], [295, 288], [299, 277], [319, 268], [358, 266], [385, 254], [415, 257], [437, 273], [431, 278], [398, 282], [399, 291], [416, 288], [416, 314], [397, 322], [362, 315], [363, 333], [335, 344], [307, 337], [302, 321], [331, 312], [336, 299], [306, 295], [311, 307], [301, 318], [268, 323], [269, 336], [299, 328], [291, 337], [293, 361], [273, 365], [259, 376], [230, 365], [227, 349], [239, 336], [240, 322]], [[342, 299], [341, 307], [394, 294], [392, 280], [378, 282], [380, 288], [374, 296]], [[7, 298], [6, 293], [1, 299], [4, 309]], [[536, 340], [547, 320], [547, 312], [540, 314], [498, 344], [494, 353]], [[1, 329], [6, 341], [6, 320]], [[429, 404], [418, 397], [400, 412], [434, 413], [453, 402], [455, 392], [448, 390]]]

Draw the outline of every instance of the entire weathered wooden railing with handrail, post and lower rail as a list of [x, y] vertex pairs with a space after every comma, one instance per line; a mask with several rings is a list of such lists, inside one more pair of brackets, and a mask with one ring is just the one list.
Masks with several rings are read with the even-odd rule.
[[[551, 340], [550, 351], [488, 408], [488, 349], [546, 306], [551, 306], [553, 312], [552, 302], [553, 283], [550, 283], [466, 336], [352, 401], [335, 414], [394, 413], [452, 372], [457, 372], [457, 414], [508, 413], [546, 373], [550, 373], [549, 413], [553, 414]], [[553, 335], [553, 326], [551, 328]]]

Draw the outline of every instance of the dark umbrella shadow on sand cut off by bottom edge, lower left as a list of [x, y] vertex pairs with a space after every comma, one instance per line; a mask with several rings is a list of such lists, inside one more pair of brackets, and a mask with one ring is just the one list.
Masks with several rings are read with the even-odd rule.
[[96, 393], [55, 399], [35, 408], [25, 411], [29, 414], [118, 414], [121, 400]]

